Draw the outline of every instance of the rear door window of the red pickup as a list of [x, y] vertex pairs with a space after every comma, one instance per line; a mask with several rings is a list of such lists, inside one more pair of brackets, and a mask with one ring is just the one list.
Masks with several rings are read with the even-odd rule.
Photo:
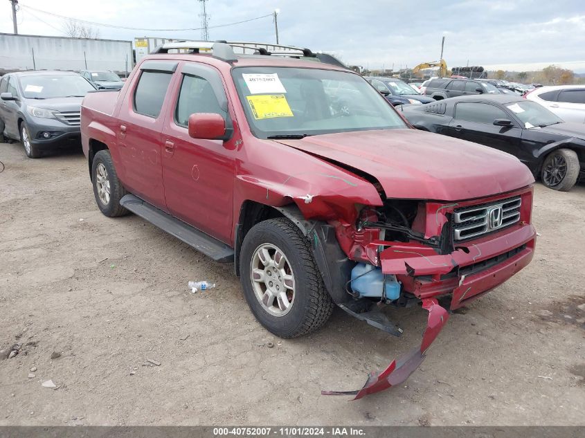
[[157, 118], [161, 113], [172, 73], [143, 71], [134, 91], [134, 111]]

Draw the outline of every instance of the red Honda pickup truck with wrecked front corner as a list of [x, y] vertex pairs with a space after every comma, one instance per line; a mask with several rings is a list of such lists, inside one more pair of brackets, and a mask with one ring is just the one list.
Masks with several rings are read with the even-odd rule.
[[323, 392], [359, 399], [408, 378], [444, 307], [530, 262], [534, 179], [512, 155], [412, 129], [357, 73], [261, 52], [162, 46], [121, 91], [89, 93], [96, 203], [233, 262], [251, 311], [283, 338], [321, 327], [334, 304], [399, 336], [382, 304], [422, 302], [420, 347], [359, 391]]

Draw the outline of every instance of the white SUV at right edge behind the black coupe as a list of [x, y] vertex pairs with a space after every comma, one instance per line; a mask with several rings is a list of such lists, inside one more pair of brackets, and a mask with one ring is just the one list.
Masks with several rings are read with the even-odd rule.
[[542, 86], [526, 95], [565, 122], [585, 123], [585, 85]]

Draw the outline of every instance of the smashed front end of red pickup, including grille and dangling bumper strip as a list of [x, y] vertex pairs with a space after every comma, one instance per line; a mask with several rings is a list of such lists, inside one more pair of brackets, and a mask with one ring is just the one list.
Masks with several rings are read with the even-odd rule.
[[383, 206], [357, 206], [352, 220], [307, 230], [325, 285], [344, 311], [394, 336], [402, 329], [381, 311], [385, 305], [422, 302], [429, 311], [420, 347], [370, 374], [359, 391], [322, 394], [360, 399], [406, 380], [449, 318], [439, 300], [457, 309], [530, 262], [531, 209], [531, 187], [463, 202], [387, 199]]

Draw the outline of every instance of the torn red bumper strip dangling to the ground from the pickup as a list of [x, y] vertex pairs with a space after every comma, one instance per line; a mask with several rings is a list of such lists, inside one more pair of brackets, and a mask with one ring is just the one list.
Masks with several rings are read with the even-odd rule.
[[322, 395], [355, 395], [353, 400], [358, 400], [369, 394], [387, 390], [389, 387], [399, 385], [415, 372], [426, 356], [426, 350], [429, 349], [439, 332], [449, 319], [447, 310], [440, 307], [435, 298], [425, 298], [422, 300], [422, 307], [429, 311], [429, 318], [426, 322], [426, 329], [422, 336], [422, 343], [408, 354], [396, 359], [384, 369], [376, 373], [371, 372], [366, 384], [361, 390], [356, 391], [321, 391]]

